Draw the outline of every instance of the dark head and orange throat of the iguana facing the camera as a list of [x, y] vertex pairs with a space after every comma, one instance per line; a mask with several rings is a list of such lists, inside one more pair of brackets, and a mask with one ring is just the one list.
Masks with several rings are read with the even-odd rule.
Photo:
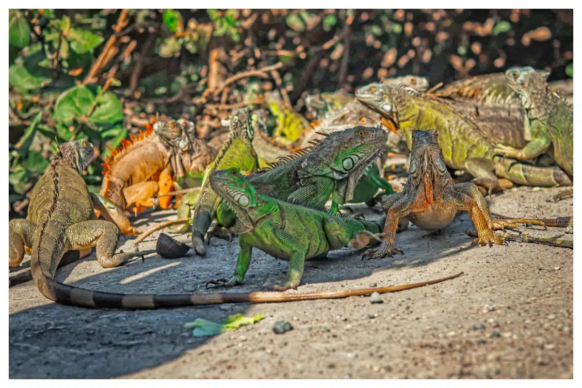
[[409, 173], [409, 180], [413, 181], [415, 187], [423, 184], [429, 204], [434, 202], [435, 187], [442, 187], [452, 179], [438, 145], [436, 129], [412, 131]]

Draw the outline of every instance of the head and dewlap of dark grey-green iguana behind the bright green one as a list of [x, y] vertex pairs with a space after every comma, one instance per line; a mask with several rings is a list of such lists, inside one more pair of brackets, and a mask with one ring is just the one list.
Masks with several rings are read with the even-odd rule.
[[297, 175], [302, 180], [328, 176], [339, 181], [336, 194], [345, 203], [352, 200], [357, 181], [378, 158], [386, 140], [388, 133], [381, 128], [360, 126], [332, 132], [303, 158]]

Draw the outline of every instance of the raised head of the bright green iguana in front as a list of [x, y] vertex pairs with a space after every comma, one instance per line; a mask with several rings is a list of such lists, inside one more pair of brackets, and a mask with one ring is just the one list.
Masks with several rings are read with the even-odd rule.
[[237, 221], [252, 230], [254, 215], [260, 204], [257, 192], [246, 177], [233, 167], [211, 173], [209, 180], [212, 190], [235, 211]]

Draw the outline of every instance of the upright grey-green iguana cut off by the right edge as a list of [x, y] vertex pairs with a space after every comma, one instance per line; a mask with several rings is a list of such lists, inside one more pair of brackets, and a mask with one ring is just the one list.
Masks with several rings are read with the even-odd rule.
[[531, 141], [516, 149], [499, 144], [495, 152], [518, 160], [535, 158], [553, 147], [553, 158], [570, 176], [574, 176], [573, 106], [553, 92], [546, 81], [549, 72], [532, 67], [512, 67], [505, 72], [509, 86], [519, 95], [527, 118]]

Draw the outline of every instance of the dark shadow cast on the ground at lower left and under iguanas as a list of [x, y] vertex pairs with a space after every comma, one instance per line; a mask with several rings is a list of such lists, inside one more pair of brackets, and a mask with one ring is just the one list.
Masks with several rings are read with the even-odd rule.
[[[362, 261], [361, 252], [335, 251], [329, 258], [307, 261], [303, 283], [353, 280], [377, 270], [424, 266], [452, 254], [451, 250], [457, 252], [458, 247], [465, 249], [471, 239], [463, 232], [471, 227], [468, 215], [460, 215], [441, 233], [412, 227], [396, 236], [396, 245], [405, 254], [394, 258]], [[212, 240], [204, 258], [192, 251], [178, 260], [164, 260], [154, 255], [146, 257], [143, 263], [139, 260], [111, 270], [103, 270], [95, 262], [91, 266], [95, 272], [90, 271], [86, 277], [77, 275], [77, 279], [81, 277], [77, 281], [67, 280], [79, 265], [77, 262], [59, 269], [57, 277], [61, 282], [111, 292], [222, 292], [223, 289], [205, 290], [204, 284], [208, 279], [229, 277], [237, 251], [237, 240], [230, 244]], [[285, 281], [288, 262], [258, 250], [253, 250], [253, 258], [246, 284], [228, 291], [261, 290], [265, 282]], [[90, 260], [95, 261], [94, 253], [84, 259]], [[428, 279], [418, 279], [421, 280]], [[14, 289], [19, 287], [29, 287], [27, 295], [38, 293], [32, 282]], [[19, 303], [18, 300], [10, 302]], [[172, 361], [211, 339], [191, 336], [191, 330], [183, 328], [184, 323], [196, 318], [222, 322], [231, 314], [244, 314], [250, 306], [228, 304], [125, 311], [49, 303], [26, 308], [9, 316], [9, 375], [10, 378], [112, 378], [141, 371]]]

